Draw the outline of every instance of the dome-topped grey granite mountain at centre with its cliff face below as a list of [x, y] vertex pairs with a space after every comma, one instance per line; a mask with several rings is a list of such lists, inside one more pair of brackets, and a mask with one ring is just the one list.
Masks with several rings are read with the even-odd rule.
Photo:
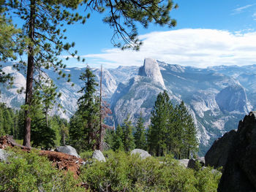
[[130, 119], [135, 123], [142, 112], [148, 126], [154, 101], [158, 93], [164, 90], [165, 83], [157, 61], [146, 58], [138, 75], [127, 84], [119, 84], [112, 96], [111, 106], [116, 123], [121, 124], [127, 115], [130, 115]]

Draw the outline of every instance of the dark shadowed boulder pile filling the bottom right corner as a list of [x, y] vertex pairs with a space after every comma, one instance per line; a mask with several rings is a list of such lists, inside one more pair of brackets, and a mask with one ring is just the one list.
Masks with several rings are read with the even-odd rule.
[[[239, 122], [237, 131], [225, 134], [206, 153], [206, 164], [210, 156], [214, 164], [223, 166], [219, 182], [219, 192], [256, 191], [256, 112], [250, 112]], [[224, 147], [224, 149], [221, 149]], [[213, 150], [213, 148], [215, 150]], [[209, 155], [211, 154], [211, 155]], [[217, 162], [217, 160], [219, 162]]]

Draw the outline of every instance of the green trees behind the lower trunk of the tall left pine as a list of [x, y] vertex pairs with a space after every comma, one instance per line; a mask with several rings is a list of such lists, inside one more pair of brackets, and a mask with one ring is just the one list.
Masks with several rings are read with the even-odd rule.
[[[50, 148], [63, 145], [64, 137], [68, 139], [67, 120], [54, 115], [49, 118], [49, 125], [45, 121], [45, 112], [42, 104], [34, 100], [34, 107], [31, 108], [31, 141], [34, 147]], [[14, 139], [23, 139], [24, 129], [24, 108], [14, 111], [11, 108], [0, 104], [0, 137], [6, 134], [12, 135]]]

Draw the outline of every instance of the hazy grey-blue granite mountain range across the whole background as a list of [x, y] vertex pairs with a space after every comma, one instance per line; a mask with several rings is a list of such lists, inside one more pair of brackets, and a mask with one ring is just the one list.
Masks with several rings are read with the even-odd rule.
[[[0, 102], [18, 108], [24, 102], [24, 94], [17, 90], [26, 85], [26, 70], [19, 71], [12, 63], [3, 63], [3, 71], [15, 77], [12, 88], [0, 85]], [[102, 76], [103, 96], [110, 103], [114, 122], [122, 123], [127, 115], [136, 123], [140, 112], [145, 125], [150, 124], [151, 110], [157, 94], [167, 90], [173, 104], [183, 100], [195, 120], [200, 154], [206, 153], [215, 139], [237, 128], [239, 120], [256, 107], [256, 65], [212, 66], [200, 69], [179, 66], [146, 58], [142, 66], [118, 66], [104, 69]], [[91, 69], [99, 81], [100, 70]], [[53, 79], [61, 97], [58, 102], [63, 110], [53, 107], [52, 114], [70, 118], [77, 109], [77, 100], [83, 83], [79, 80], [83, 68], [66, 68], [72, 81], [61, 78], [53, 69], [45, 70]], [[74, 83], [74, 86], [71, 86]], [[66, 112], [64, 112], [66, 111]]]

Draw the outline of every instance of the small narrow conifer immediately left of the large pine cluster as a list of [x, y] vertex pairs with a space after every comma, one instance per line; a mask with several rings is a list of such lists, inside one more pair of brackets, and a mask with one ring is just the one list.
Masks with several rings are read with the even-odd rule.
[[142, 112], [140, 112], [140, 118], [138, 118], [137, 124], [135, 126], [135, 146], [138, 149], [146, 150], [146, 132], [143, 123], [144, 120], [142, 117]]

